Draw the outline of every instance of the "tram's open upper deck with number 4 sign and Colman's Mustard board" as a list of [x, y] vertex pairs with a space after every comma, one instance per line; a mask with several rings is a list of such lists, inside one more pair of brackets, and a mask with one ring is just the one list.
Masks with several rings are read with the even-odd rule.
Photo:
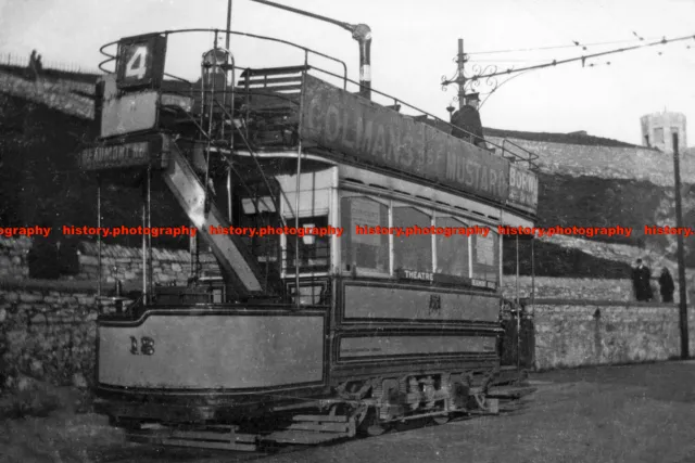
[[[348, 79], [340, 60], [286, 41], [280, 41], [283, 47], [304, 54], [304, 64], [241, 67], [231, 52], [214, 47], [203, 54], [197, 81], [175, 78], [165, 73], [165, 62], [177, 55], [167, 52], [167, 41], [176, 34], [112, 43], [117, 53], [108, 54], [108, 61], [116, 62], [115, 73], [104, 76], [98, 91], [102, 145], [153, 132], [237, 153], [296, 152], [301, 142], [303, 153], [424, 180], [534, 217], [538, 179], [532, 153], [506, 143], [488, 143], [490, 150], [482, 150], [452, 137], [453, 126], [417, 108], [420, 115], [401, 114], [399, 110], [408, 105], [393, 97], [369, 89], [374, 99], [364, 98], [364, 89]], [[337, 63], [343, 72], [309, 62], [317, 61], [314, 57]], [[154, 145], [144, 150], [161, 151], [159, 140]], [[105, 149], [101, 159], [93, 159], [85, 152], [81, 164], [88, 169], [125, 166], [127, 162], [116, 159], [122, 153]], [[141, 162], [156, 156], [150, 153]]]

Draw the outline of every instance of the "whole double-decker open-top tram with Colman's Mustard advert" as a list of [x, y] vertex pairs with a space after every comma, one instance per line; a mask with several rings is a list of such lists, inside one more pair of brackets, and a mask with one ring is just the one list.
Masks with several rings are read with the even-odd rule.
[[[165, 72], [181, 34], [214, 36], [197, 80]], [[346, 67], [330, 56], [230, 34], [304, 60], [243, 67], [215, 30], [111, 44], [78, 163], [142, 188], [146, 227], [169, 191], [198, 233], [186, 286], [153, 281], [143, 236], [141, 291], [102, 310], [101, 412], [136, 440], [228, 449], [498, 412], [519, 376], [500, 368], [497, 226], [532, 226], [530, 160], [313, 63]]]

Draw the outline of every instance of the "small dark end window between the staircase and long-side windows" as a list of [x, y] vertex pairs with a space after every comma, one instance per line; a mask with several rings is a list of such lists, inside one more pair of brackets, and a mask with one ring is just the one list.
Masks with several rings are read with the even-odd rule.
[[[295, 227], [294, 219], [289, 219], [288, 227]], [[328, 227], [328, 217], [306, 217], [300, 219], [300, 229], [315, 229]], [[306, 235], [287, 235], [286, 247], [286, 269], [288, 273], [294, 273], [296, 255], [296, 245], [299, 243], [300, 249], [300, 272], [324, 272], [328, 271], [330, 263], [330, 236], [311, 235], [312, 239], [307, 239]]]

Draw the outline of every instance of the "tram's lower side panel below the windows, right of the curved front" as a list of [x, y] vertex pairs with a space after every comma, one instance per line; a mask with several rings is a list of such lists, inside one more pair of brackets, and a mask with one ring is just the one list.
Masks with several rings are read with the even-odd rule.
[[340, 279], [331, 384], [498, 366], [494, 293]]

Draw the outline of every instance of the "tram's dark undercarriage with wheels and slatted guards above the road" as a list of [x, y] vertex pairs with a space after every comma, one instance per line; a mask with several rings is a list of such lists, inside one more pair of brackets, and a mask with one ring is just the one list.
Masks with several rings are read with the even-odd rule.
[[[332, 396], [305, 396], [285, 404], [277, 396], [258, 397], [261, 401], [241, 407], [111, 401], [104, 402], [103, 412], [131, 441], [255, 451], [378, 436], [414, 420], [445, 424], [460, 416], [496, 415], [516, 410], [518, 399], [534, 390], [516, 369], [475, 376], [482, 374], [440, 371], [350, 381], [338, 385]], [[271, 402], [276, 404], [263, 404]]]

